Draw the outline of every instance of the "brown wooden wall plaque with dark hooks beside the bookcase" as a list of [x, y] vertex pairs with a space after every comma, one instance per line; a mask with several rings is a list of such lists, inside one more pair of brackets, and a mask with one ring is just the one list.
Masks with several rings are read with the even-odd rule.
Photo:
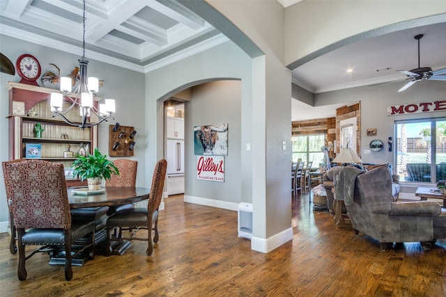
[[109, 156], [133, 156], [135, 134], [133, 127], [121, 126], [119, 123], [109, 126]]

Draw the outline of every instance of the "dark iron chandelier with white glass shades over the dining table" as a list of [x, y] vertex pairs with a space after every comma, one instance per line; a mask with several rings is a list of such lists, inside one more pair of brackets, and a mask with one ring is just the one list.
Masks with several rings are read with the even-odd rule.
[[[62, 93], [51, 93], [51, 111], [53, 112], [52, 118], [59, 116], [68, 125], [77, 126], [79, 128], [93, 127], [99, 125], [101, 122], [112, 118], [112, 113], [115, 112], [114, 99], [105, 99], [104, 104], [99, 104], [99, 110], [96, 109], [93, 104], [93, 97], [95, 97], [95, 92], [99, 90], [99, 80], [95, 77], [89, 77], [87, 79], [87, 66], [89, 61], [85, 58], [85, 0], [84, 0], [84, 15], [83, 15], [83, 40], [82, 40], [82, 58], [79, 58], [79, 85], [77, 86], [74, 93], [68, 95], [71, 92], [72, 79], [70, 77], [61, 77], [61, 91]], [[68, 109], [63, 110], [63, 99], [68, 102], [72, 102]], [[79, 102], [80, 100], [80, 102]], [[74, 106], [79, 106], [80, 115], [82, 121], [72, 122], [66, 117], [68, 113]], [[98, 117], [97, 122], [89, 122], [89, 117], [91, 113]]]

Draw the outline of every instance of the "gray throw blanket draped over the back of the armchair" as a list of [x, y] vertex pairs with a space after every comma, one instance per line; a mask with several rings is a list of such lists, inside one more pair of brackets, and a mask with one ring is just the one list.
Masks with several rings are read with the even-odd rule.
[[355, 179], [362, 172], [355, 167], [344, 167], [339, 170], [334, 178], [334, 199], [344, 200], [344, 204], [351, 205], [355, 191]]

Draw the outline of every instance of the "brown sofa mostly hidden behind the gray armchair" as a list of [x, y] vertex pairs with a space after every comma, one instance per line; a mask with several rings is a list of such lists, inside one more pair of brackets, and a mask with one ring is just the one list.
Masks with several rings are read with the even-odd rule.
[[[374, 170], [378, 167], [385, 167], [387, 168], [387, 171], [390, 173], [392, 171], [392, 166], [390, 164], [371, 164], [371, 163], [364, 163], [361, 168], [364, 170]], [[330, 211], [330, 214], [333, 213], [333, 201], [334, 201], [334, 194], [332, 193], [332, 188], [334, 184], [334, 175], [337, 174], [337, 170], [340, 170], [342, 167], [337, 166], [333, 167], [322, 176], [322, 183], [323, 187], [325, 188], [325, 191], [327, 191], [327, 207], [328, 211]], [[401, 186], [399, 185], [399, 175], [392, 175], [392, 196], [395, 201], [398, 199], [399, 191], [401, 190]]]

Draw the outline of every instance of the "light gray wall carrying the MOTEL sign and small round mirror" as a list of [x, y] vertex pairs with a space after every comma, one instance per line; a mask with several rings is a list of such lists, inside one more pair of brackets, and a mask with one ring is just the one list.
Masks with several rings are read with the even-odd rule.
[[[364, 86], [315, 94], [314, 103], [320, 106], [360, 101], [362, 161], [366, 163], [389, 162], [393, 164], [395, 150], [393, 152], [387, 150], [387, 139], [389, 136], [395, 139], [395, 120], [446, 116], [446, 111], [387, 116], [387, 106], [446, 100], [446, 83], [443, 81], [419, 81], [407, 90], [398, 93], [397, 91], [404, 83], [404, 81], [399, 81], [395, 83], [384, 83], [378, 86]], [[376, 136], [367, 136], [367, 129], [371, 128], [376, 128]], [[364, 150], [369, 150], [369, 143], [374, 139], [383, 141], [385, 143], [385, 150], [364, 154]]]

